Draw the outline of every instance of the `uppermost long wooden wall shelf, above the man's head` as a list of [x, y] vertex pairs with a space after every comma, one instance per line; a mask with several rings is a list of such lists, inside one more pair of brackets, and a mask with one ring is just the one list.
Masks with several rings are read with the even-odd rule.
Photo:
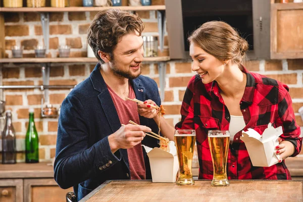
[[103, 11], [107, 9], [121, 9], [124, 11], [155, 11], [155, 10], [165, 10], [165, 6], [123, 6], [123, 7], [41, 7], [41, 8], [0, 8], [0, 12], [85, 12], [85, 11]]

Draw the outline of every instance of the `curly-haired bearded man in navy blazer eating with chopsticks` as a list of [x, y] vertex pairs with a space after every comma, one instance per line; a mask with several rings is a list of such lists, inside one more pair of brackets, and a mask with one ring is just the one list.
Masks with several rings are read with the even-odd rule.
[[99, 63], [63, 101], [54, 168], [59, 186], [73, 186], [78, 200], [106, 180], [151, 179], [141, 143], [157, 146], [144, 131], [157, 133], [158, 126], [125, 99], [161, 105], [156, 82], [140, 75], [143, 29], [138, 16], [116, 9], [98, 13], [88, 29]]

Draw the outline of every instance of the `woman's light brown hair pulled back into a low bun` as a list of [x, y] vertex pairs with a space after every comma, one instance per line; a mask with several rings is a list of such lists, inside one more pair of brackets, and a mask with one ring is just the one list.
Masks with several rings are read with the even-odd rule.
[[247, 41], [222, 21], [204, 23], [191, 33], [188, 41], [219, 60], [232, 60], [240, 68], [248, 49]]

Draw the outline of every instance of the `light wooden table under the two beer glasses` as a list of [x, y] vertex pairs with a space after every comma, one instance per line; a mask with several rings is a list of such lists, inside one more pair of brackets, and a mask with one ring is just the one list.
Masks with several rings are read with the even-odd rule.
[[82, 198], [95, 201], [303, 201], [303, 181], [231, 180], [227, 187], [212, 187], [196, 180], [190, 186], [149, 180], [106, 181]]

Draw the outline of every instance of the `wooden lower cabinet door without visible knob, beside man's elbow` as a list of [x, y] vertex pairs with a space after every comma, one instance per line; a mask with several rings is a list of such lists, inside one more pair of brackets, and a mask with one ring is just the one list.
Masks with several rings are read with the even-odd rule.
[[62, 189], [53, 178], [24, 179], [24, 202], [66, 202], [66, 193], [73, 188]]

